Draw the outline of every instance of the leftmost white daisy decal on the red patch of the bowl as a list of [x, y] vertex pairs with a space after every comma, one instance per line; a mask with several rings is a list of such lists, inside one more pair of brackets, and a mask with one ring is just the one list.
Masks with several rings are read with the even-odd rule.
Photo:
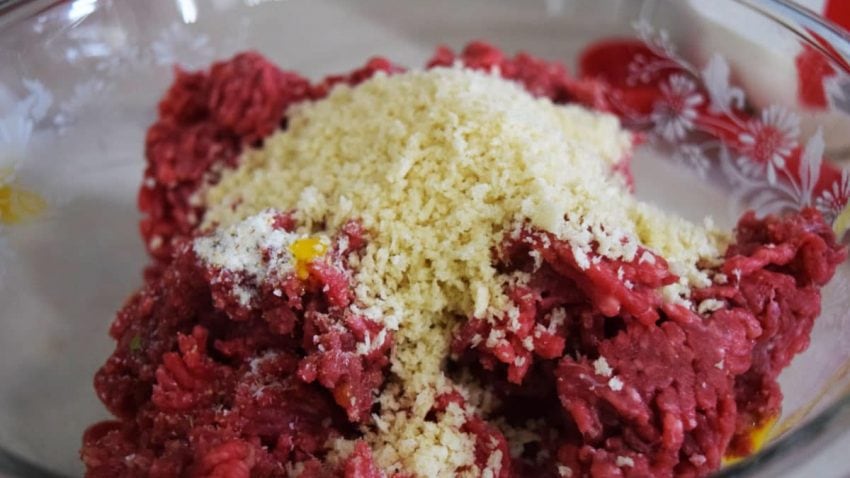
[[703, 103], [703, 97], [696, 83], [684, 75], [671, 75], [661, 85], [661, 93], [664, 100], [655, 105], [651, 116], [655, 131], [667, 141], [682, 140], [694, 128], [696, 107]]

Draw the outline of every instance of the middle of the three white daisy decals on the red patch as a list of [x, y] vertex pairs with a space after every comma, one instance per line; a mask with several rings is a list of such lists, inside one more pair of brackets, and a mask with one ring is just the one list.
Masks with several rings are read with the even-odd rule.
[[785, 169], [785, 159], [797, 147], [800, 118], [777, 105], [763, 110], [761, 117], [750, 121], [746, 131], [738, 135], [744, 157], [767, 167], [767, 180], [776, 184], [777, 170]]

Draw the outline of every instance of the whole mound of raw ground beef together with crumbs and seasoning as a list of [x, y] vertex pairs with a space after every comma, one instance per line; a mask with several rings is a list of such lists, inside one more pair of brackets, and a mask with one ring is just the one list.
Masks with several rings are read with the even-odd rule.
[[605, 86], [484, 43], [311, 83], [176, 70], [151, 255], [95, 376], [89, 477], [706, 476], [780, 412], [846, 258], [637, 201]]

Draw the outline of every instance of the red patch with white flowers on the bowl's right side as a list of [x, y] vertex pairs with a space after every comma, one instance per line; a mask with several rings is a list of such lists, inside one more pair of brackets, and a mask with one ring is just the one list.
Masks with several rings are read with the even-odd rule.
[[579, 61], [582, 76], [606, 85], [611, 110], [625, 124], [654, 130], [682, 148], [681, 158], [703, 170], [709, 149], [727, 148], [737, 156], [732, 165], [738, 169], [738, 177], [729, 179], [746, 182], [733, 187], [767, 193], [759, 196], [757, 208], [774, 212], [814, 205], [828, 217], [836, 216], [836, 202], [844, 201], [835, 193], [842, 190], [842, 173], [806, 154], [793, 114], [778, 106], [760, 113], [747, 108], [743, 91], [728, 84], [731, 72], [722, 57], [715, 56], [700, 71], [675, 55], [663, 32], [653, 36], [651, 27], [643, 25], [639, 34], [643, 40], [592, 44]]

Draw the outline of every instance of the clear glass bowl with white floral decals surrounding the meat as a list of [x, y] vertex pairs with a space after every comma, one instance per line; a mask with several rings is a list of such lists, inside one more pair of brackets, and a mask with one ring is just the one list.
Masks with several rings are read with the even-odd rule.
[[[723, 227], [807, 204], [846, 226], [850, 41], [778, 0], [0, 1], [0, 476], [80, 475], [81, 434], [107, 416], [92, 377], [141, 284], [143, 139], [173, 64], [251, 48], [317, 78], [375, 54], [421, 65], [437, 44], [479, 38], [569, 66], [601, 39], [646, 42], [658, 56], [631, 58], [629, 84], [677, 69], [664, 91], [682, 102], [630, 118], [648, 138], [638, 196]], [[721, 115], [746, 104], [745, 130], [776, 127], [803, 160], [780, 148], [750, 161], [689, 116], [702, 102]], [[850, 473], [848, 287], [844, 264], [781, 377], [772, 438], [721, 476]]]

